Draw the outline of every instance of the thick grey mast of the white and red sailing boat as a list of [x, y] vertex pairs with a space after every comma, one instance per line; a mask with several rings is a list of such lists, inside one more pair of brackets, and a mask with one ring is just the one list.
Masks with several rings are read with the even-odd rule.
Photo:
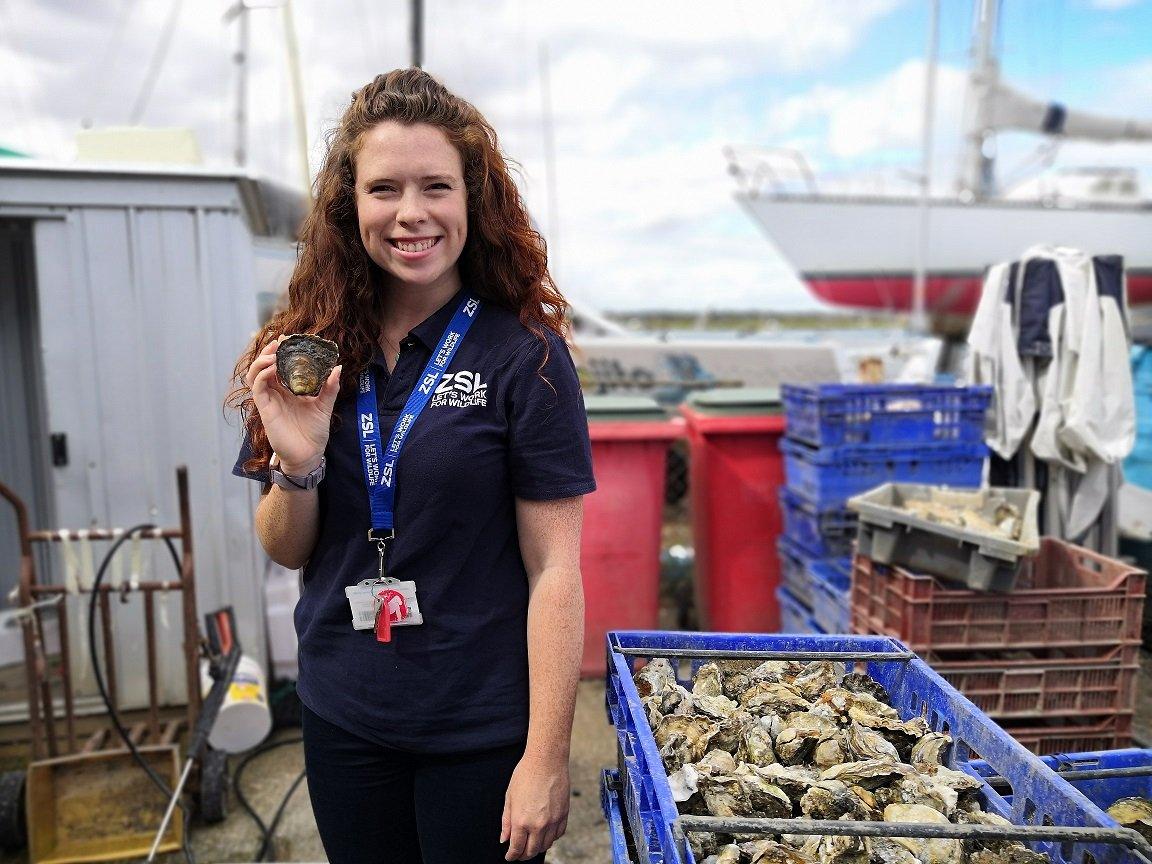
[[992, 94], [1000, 79], [1000, 65], [992, 41], [996, 35], [998, 13], [999, 0], [979, 0], [972, 37], [972, 67], [968, 78], [972, 114], [965, 134], [968, 147], [960, 177], [960, 192], [976, 200], [991, 198], [995, 194]]

